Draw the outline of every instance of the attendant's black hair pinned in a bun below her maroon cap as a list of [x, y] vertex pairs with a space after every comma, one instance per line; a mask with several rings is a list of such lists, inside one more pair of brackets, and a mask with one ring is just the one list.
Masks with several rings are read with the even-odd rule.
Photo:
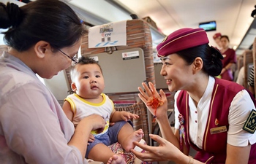
[[203, 44], [197, 47], [188, 48], [176, 52], [181, 58], [192, 64], [195, 58], [200, 57], [203, 60], [203, 71], [212, 77], [217, 77], [222, 71], [222, 54], [214, 47]]

